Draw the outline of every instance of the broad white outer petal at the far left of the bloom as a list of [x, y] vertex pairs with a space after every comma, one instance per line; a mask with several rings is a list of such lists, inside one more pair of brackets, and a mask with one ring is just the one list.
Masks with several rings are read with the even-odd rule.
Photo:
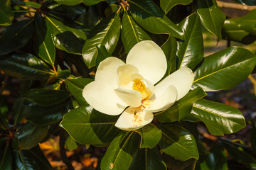
[[85, 101], [95, 110], [107, 115], [119, 115], [127, 105], [114, 93], [105, 81], [92, 81], [82, 91]]

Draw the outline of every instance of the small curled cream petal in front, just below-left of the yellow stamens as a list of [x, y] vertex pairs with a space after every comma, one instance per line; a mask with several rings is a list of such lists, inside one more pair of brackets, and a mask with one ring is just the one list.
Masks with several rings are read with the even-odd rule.
[[139, 107], [142, 105], [142, 94], [139, 93], [139, 91], [119, 87], [115, 89], [114, 92], [124, 103], [127, 103], [128, 106]]

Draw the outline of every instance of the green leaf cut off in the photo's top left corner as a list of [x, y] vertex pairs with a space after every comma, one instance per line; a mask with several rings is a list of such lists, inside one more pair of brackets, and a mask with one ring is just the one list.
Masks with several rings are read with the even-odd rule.
[[14, 13], [11, 11], [11, 0], [0, 0], [0, 25], [9, 26], [14, 19]]

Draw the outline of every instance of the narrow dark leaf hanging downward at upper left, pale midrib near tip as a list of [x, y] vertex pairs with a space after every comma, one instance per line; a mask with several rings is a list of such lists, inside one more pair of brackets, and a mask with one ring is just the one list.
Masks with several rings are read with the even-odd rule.
[[54, 65], [55, 47], [53, 44], [53, 28], [48, 20], [42, 18], [38, 13], [35, 14], [36, 32], [34, 39], [34, 50], [41, 59]]

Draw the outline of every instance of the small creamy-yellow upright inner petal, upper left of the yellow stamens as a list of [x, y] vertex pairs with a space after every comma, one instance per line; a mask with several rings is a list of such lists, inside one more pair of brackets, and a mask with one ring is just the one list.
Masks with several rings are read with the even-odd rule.
[[119, 86], [126, 87], [127, 89], [132, 89], [131, 75], [138, 73], [139, 70], [131, 64], [122, 64], [117, 68], [117, 77], [119, 81]]

